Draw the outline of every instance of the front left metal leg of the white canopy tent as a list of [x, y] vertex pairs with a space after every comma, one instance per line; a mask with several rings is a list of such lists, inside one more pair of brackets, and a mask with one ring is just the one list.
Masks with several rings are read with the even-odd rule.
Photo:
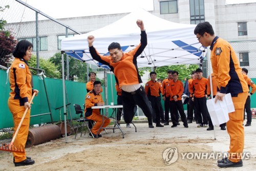
[[64, 126], [65, 126], [65, 142], [68, 142], [67, 138], [67, 111], [66, 111], [66, 95], [65, 95], [65, 72], [64, 72], [64, 55], [61, 51], [61, 66], [62, 66], [62, 94], [63, 94], [63, 115], [64, 115]]

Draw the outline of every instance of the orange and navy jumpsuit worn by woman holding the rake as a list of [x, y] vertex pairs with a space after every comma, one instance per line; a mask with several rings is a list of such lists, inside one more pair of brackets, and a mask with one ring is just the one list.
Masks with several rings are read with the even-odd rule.
[[[25, 63], [25, 61], [23, 59], [14, 58], [9, 72], [11, 92], [8, 99], [8, 106], [14, 121], [14, 131], [16, 131], [26, 110], [24, 104], [29, 102], [32, 96], [33, 90], [31, 87], [31, 78], [32, 76], [29, 71], [29, 66]], [[30, 110], [28, 110], [13, 143], [18, 148], [20, 147], [25, 149], [29, 133], [29, 123]], [[15, 162], [22, 162], [27, 159], [26, 152], [13, 153], [13, 156], [15, 158]]]

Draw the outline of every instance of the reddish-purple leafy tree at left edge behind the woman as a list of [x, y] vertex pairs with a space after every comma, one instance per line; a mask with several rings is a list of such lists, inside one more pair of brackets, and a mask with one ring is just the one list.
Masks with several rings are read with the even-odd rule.
[[[0, 7], [0, 12], [3, 12], [9, 6], [5, 8]], [[17, 40], [14, 39], [11, 32], [5, 30], [6, 20], [0, 19], [0, 65], [7, 66], [5, 62], [10, 62], [12, 60], [12, 52], [17, 44]]]

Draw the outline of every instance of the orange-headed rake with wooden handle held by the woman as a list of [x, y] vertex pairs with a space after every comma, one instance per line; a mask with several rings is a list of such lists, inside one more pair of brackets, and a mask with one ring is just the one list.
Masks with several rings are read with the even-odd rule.
[[[32, 103], [32, 101], [33, 101], [33, 99], [34, 99], [35, 93], [36, 93], [36, 92], [33, 93], [32, 97], [31, 97], [31, 100], [30, 100], [30, 102], [29, 102], [29, 105], [31, 105], [31, 103]], [[26, 108], [26, 110], [25, 110], [25, 112], [24, 112], [24, 114], [23, 114], [23, 116], [22, 116], [22, 119], [20, 119], [20, 122], [19, 122], [19, 124], [18, 124], [18, 128], [16, 129], [15, 134], [14, 134], [14, 136], [12, 137], [11, 143], [10, 143], [10, 144], [2, 143], [2, 146], [0, 147], [0, 151], [16, 152], [16, 153], [24, 153], [24, 152], [25, 152], [25, 148], [24, 148], [24, 147], [15, 147], [15, 146], [13, 145], [13, 143], [14, 143], [14, 140], [15, 140], [17, 134], [18, 134], [19, 128], [22, 126], [23, 120], [24, 120], [24, 118], [25, 118], [25, 116], [26, 116], [28, 110], [29, 110], [29, 108]]]

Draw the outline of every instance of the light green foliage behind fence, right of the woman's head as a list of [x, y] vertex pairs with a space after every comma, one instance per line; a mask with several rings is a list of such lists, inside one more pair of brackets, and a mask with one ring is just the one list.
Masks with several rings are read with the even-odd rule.
[[[32, 58], [28, 61], [28, 64], [30, 67], [36, 68], [36, 56], [32, 55]], [[61, 78], [60, 72], [56, 69], [56, 66], [50, 60], [39, 58], [39, 65], [40, 69], [44, 69], [46, 71], [45, 75], [47, 77], [56, 79]], [[32, 70], [32, 74], [36, 75], [36, 70]]]

